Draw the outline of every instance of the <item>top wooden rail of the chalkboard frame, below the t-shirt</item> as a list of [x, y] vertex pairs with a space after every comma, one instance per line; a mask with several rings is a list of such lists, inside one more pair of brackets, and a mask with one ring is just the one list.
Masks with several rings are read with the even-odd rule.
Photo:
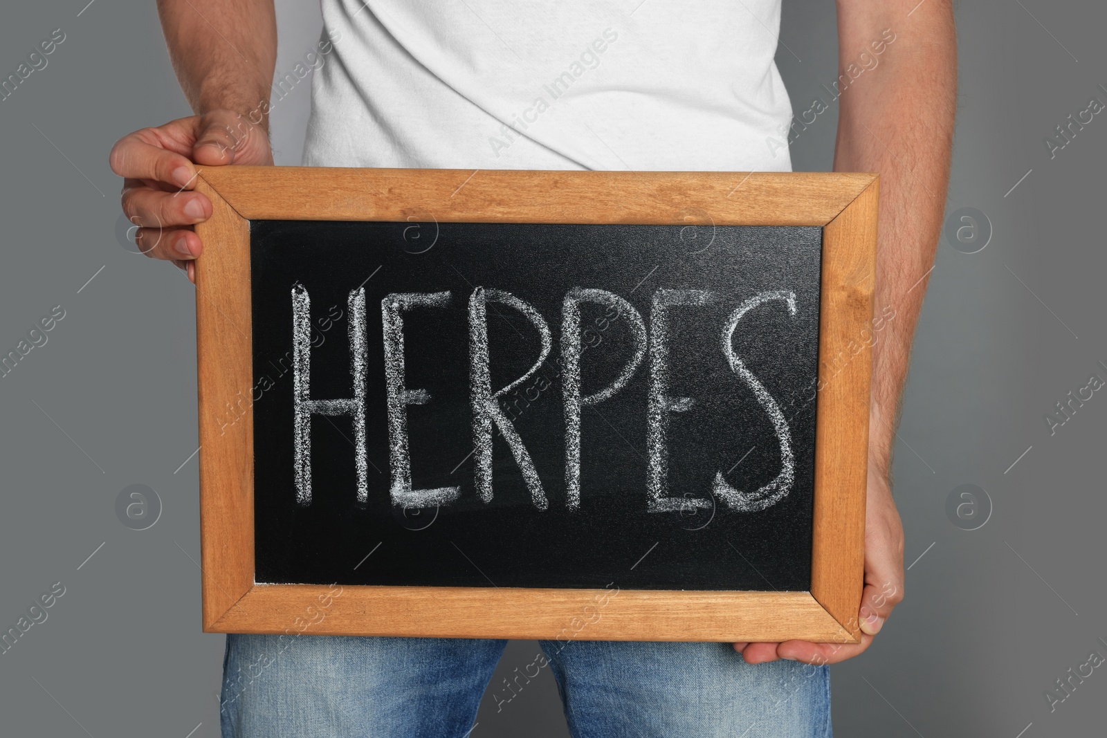
[[244, 218], [825, 226], [872, 175], [200, 167]]

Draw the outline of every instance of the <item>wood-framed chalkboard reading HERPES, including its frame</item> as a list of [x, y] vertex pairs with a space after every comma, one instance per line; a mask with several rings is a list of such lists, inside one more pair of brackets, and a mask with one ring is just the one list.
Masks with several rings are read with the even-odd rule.
[[875, 179], [457, 174], [203, 173], [206, 630], [856, 640]]

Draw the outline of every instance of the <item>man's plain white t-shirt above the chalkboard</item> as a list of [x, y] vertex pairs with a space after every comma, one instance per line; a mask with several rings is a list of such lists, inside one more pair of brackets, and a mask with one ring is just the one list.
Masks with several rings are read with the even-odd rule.
[[322, 0], [303, 163], [787, 171], [780, 0]]

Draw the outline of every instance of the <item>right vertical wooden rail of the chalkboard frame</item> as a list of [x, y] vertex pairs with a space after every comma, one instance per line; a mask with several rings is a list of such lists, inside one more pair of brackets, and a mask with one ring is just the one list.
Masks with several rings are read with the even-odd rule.
[[859, 637], [879, 181], [823, 229], [811, 594]]

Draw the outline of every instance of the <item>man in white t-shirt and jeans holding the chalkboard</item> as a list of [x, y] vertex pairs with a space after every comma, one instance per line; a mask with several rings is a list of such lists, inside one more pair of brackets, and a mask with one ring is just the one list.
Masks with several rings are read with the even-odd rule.
[[[317, 70], [309, 165], [787, 170], [789, 137], [826, 110], [819, 100], [792, 117], [773, 62], [779, 0], [322, 7], [306, 58]], [[827, 665], [868, 648], [903, 596], [889, 467], [945, 201], [953, 19], [950, 0], [837, 7], [835, 169], [881, 175], [876, 309], [894, 316], [873, 346], [862, 641], [542, 644], [575, 736], [829, 736]], [[272, 0], [158, 10], [196, 115], [123, 137], [111, 164], [143, 250], [194, 279], [204, 245], [192, 227], [211, 214], [192, 191], [195, 164], [272, 164], [270, 92], [284, 89], [270, 86], [275, 11]], [[228, 636], [225, 736], [467, 735], [504, 642], [301, 636], [278, 647]]]

